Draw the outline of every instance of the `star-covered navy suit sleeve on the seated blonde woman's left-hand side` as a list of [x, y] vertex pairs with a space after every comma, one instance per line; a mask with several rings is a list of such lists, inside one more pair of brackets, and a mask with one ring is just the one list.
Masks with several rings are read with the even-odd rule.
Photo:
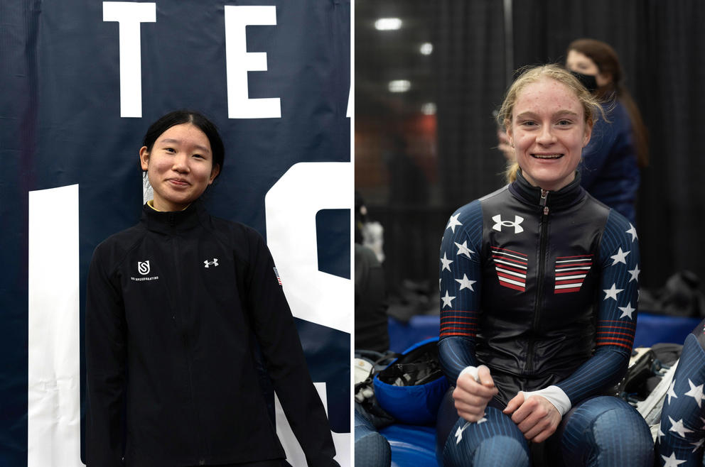
[[441, 241], [438, 356], [451, 385], [456, 384], [463, 368], [478, 365], [475, 334], [482, 288], [482, 226], [480, 202], [472, 202], [451, 216]]

